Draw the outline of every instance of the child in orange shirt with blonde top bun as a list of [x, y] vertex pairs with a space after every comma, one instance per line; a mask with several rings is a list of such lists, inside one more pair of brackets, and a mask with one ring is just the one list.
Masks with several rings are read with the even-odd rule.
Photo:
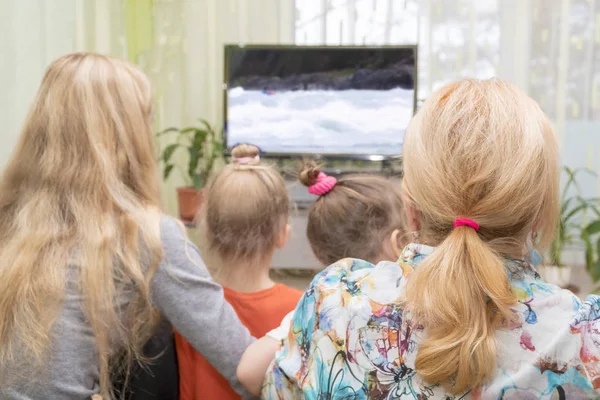
[[[285, 246], [290, 201], [281, 175], [260, 162], [257, 147], [241, 144], [232, 163], [211, 182], [201, 217], [215, 279], [255, 337], [264, 336], [294, 309], [302, 292], [269, 277], [276, 249]], [[214, 332], [216, 336], [219, 332]], [[228, 382], [180, 335], [175, 336], [180, 399], [239, 399]]]

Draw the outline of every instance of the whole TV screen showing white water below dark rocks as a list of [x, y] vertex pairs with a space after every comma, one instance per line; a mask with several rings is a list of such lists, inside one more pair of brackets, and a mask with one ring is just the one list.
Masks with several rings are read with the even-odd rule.
[[415, 110], [416, 46], [226, 46], [226, 146], [397, 156]]

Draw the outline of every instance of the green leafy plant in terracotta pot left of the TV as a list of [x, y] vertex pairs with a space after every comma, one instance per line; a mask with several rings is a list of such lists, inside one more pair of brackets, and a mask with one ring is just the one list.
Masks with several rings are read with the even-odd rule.
[[[215, 161], [222, 157], [223, 145], [220, 135], [217, 135], [210, 124], [200, 119], [199, 126], [187, 128], [167, 128], [157, 136], [174, 135], [175, 142], [167, 145], [160, 154], [163, 163], [163, 179], [168, 179], [173, 169], [183, 172], [186, 186], [177, 188], [179, 216], [185, 222], [191, 222], [196, 217], [202, 204], [202, 188], [213, 170]], [[173, 154], [178, 149], [187, 150], [189, 160], [187, 171], [172, 161]]]

